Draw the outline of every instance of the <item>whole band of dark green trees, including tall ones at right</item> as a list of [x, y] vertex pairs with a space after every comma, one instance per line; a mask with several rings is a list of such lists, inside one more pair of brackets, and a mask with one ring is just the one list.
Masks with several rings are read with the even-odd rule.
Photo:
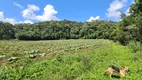
[[69, 20], [45, 21], [34, 24], [0, 22], [0, 39], [57, 40], [57, 39], [110, 39], [127, 44], [142, 42], [142, 0], [135, 0], [129, 15], [122, 13], [119, 22], [96, 20], [76, 22]]

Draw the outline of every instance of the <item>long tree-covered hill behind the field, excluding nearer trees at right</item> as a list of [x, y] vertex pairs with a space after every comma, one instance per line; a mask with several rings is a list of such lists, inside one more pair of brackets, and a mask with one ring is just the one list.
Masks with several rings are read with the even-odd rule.
[[15, 25], [0, 22], [0, 38], [19, 40], [112, 39], [115, 24], [112, 21], [81, 23], [68, 20]]

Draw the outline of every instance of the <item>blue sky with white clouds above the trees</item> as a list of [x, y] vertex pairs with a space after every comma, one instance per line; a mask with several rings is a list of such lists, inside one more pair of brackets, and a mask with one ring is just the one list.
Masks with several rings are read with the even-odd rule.
[[12, 24], [42, 21], [120, 20], [134, 0], [2, 0], [0, 21]]

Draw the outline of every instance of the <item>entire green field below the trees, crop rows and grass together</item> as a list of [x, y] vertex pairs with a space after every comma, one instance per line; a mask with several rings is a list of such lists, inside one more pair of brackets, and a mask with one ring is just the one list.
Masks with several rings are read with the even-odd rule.
[[109, 65], [130, 72], [114, 80], [141, 80], [142, 54], [109, 40], [0, 41], [1, 80], [110, 80]]

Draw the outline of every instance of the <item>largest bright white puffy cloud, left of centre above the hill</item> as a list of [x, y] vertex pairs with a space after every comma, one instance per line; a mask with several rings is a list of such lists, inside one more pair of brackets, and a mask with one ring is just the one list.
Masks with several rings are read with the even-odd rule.
[[55, 15], [58, 13], [52, 5], [46, 5], [42, 15], [36, 15], [34, 12], [39, 11], [40, 8], [35, 5], [29, 5], [28, 8], [22, 11], [22, 16], [26, 19], [37, 20], [37, 21], [51, 21], [59, 20]]

